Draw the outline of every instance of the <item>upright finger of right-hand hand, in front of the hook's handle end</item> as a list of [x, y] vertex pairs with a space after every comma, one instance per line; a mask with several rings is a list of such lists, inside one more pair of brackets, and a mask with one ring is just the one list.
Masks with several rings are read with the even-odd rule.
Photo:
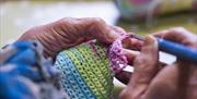
[[[159, 71], [158, 67], [158, 42], [152, 36], [144, 39], [140, 55], [135, 59], [135, 72], [128, 87], [134, 90], [135, 96], [143, 94], [152, 78]], [[137, 90], [137, 91], [135, 91]]]

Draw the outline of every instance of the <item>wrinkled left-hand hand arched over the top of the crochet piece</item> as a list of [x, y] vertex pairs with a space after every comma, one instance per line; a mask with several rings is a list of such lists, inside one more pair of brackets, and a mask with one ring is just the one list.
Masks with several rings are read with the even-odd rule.
[[62, 18], [34, 27], [19, 40], [38, 40], [44, 46], [44, 55], [55, 58], [59, 51], [88, 40], [112, 44], [120, 36], [119, 33], [124, 33], [124, 29], [108, 26], [101, 18]]

